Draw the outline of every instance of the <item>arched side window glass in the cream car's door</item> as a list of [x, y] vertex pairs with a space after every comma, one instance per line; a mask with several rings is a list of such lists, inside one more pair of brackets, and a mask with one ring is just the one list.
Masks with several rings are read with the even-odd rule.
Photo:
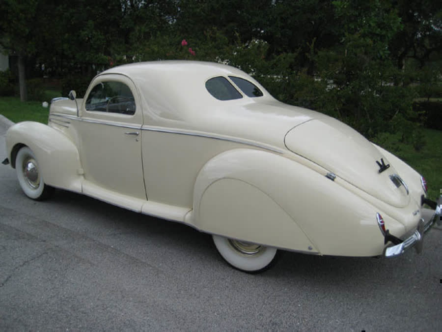
[[134, 95], [124, 83], [101, 82], [89, 92], [86, 110], [134, 115]]

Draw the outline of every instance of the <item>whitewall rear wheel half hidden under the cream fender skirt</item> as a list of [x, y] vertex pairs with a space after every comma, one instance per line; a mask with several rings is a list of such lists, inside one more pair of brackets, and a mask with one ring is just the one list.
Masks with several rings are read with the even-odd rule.
[[275, 262], [276, 248], [212, 235], [222, 258], [244, 272], [261, 272]]

